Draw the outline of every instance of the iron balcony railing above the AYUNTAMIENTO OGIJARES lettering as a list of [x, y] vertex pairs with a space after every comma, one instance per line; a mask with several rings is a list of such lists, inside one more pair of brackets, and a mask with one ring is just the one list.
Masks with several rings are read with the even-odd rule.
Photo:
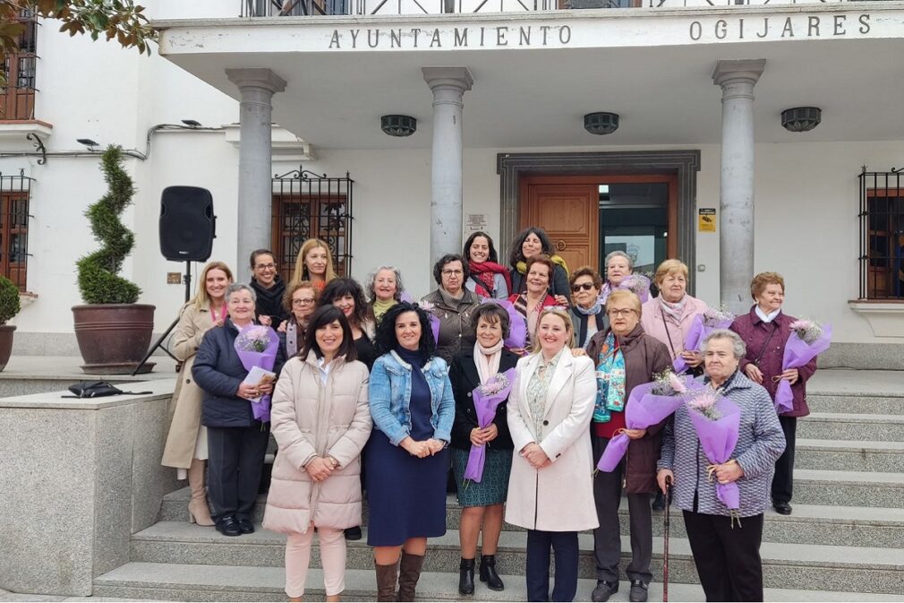
[[310, 14], [523, 13], [574, 8], [833, 5], [858, 0], [241, 0], [243, 17]]

